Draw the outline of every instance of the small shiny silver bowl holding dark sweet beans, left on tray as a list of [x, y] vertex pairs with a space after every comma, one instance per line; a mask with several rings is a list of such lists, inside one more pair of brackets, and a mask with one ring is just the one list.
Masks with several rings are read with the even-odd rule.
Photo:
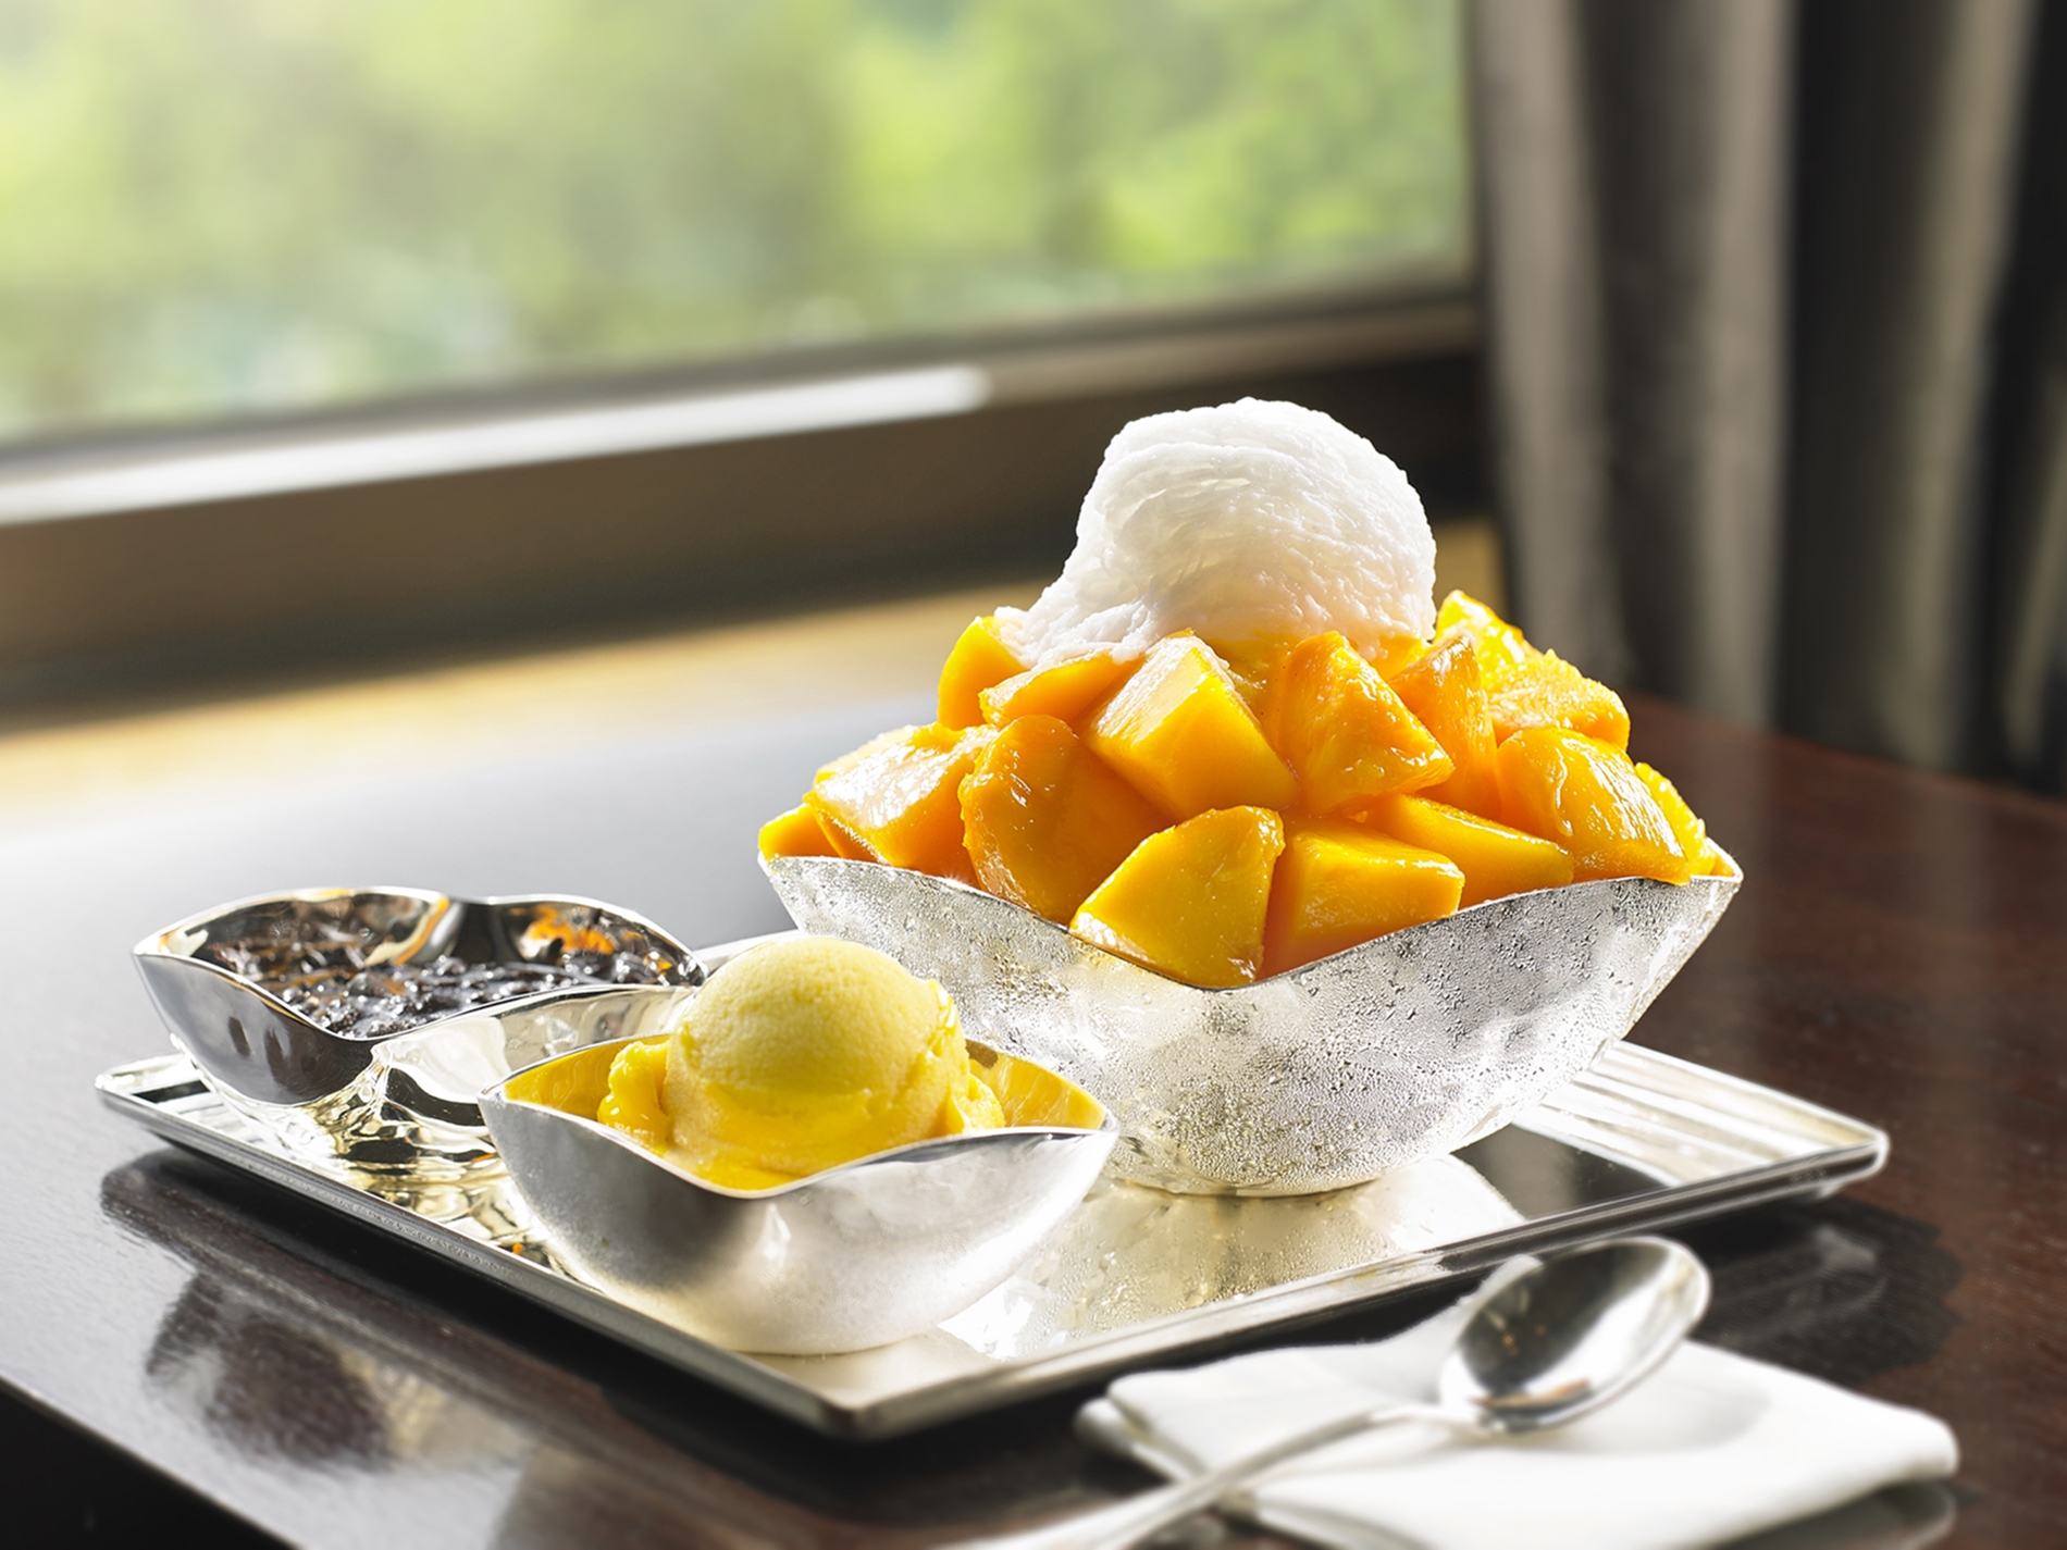
[[[335, 963], [308, 973], [312, 955]], [[395, 887], [240, 899], [145, 936], [134, 957], [172, 1042], [244, 1118], [298, 1153], [424, 1178], [496, 1166], [473, 1104], [482, 1085], [643, 1031], [624, 1025], [624, 990], [686, 994], [705, 975], [695, 953], [616, 905]], [[585, 980], [374, 1031], [327, 1025], [343, 1021], [335, 990], [347, 969], [440, 959]]]

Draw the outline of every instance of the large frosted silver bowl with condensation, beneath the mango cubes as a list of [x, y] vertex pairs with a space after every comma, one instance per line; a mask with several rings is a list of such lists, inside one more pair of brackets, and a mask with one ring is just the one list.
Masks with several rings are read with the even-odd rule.
[[1519, 893], [1201, 990], [961, 882], [763, 866], [800, 928], [938, 980], [971, 1035], [1106, 1104], [1118, 1176], [1199, 1195], [1344, 1188], [1490, 1135], [1635, 1025], [1742, 880]]

